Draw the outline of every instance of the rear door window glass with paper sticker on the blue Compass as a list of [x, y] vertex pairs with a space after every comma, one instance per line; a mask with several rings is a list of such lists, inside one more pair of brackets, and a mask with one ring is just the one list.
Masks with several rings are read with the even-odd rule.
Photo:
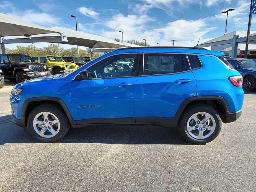
[[181, 54], [144, 54], [143, 75], [172, 74], [186, 71]]

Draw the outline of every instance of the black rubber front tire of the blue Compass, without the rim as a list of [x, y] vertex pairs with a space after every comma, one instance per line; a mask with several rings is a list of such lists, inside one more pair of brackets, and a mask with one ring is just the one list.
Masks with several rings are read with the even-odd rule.
[[[44, 112], [44, 111], [53, 113], [54, 115], [56, 115], [56, 117], [60, 121], [60, 130], [54, 137], [50, 137], [50, 138], [42, 137], [39, 134], [37, 134], [37, 132], [33, 127], [33, 120], [35, 116], [38, 113]], [[58, 106], [55, 106], [55, 105], [40, 105], [34, 108], [30, 112], [27, 122], [28, 122], [27, 128], [29, 129], [29, 132], [32, 134], [32, 136], [35, 137], [38, 141], [47, 142], [47, 143], [59, 141], [68, 133], [68, 130], [70, 128], [68, 117]]]

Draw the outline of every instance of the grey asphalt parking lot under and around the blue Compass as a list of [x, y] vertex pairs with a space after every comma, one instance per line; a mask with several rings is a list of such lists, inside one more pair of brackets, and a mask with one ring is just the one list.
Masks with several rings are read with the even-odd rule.
[[242, 116], [206, 145], [177, 128], [94, 126], [58, 143], [35, 140], [11, 122], [0, 89], [0, 191], [256, 191], [256, 93]]

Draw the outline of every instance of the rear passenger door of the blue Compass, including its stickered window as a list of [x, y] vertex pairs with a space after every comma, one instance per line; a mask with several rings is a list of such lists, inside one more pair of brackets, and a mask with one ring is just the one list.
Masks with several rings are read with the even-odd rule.
[[136, 123], [172, 123], [181, 103], [196, 96], [196, 82], [182, 54], [144, 54], [135, 90]]

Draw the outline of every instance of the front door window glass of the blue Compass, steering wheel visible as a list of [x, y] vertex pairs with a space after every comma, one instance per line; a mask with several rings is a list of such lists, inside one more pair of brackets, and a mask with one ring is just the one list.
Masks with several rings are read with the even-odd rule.
[[[135, 73], [136, 54], [114, 55], [87, 69], [89, 79], [108, 77], [129, 77]], [[133, 61], [126, 61], [132, 58]], [[137, 70], [136, 70], [137, 71]]]

